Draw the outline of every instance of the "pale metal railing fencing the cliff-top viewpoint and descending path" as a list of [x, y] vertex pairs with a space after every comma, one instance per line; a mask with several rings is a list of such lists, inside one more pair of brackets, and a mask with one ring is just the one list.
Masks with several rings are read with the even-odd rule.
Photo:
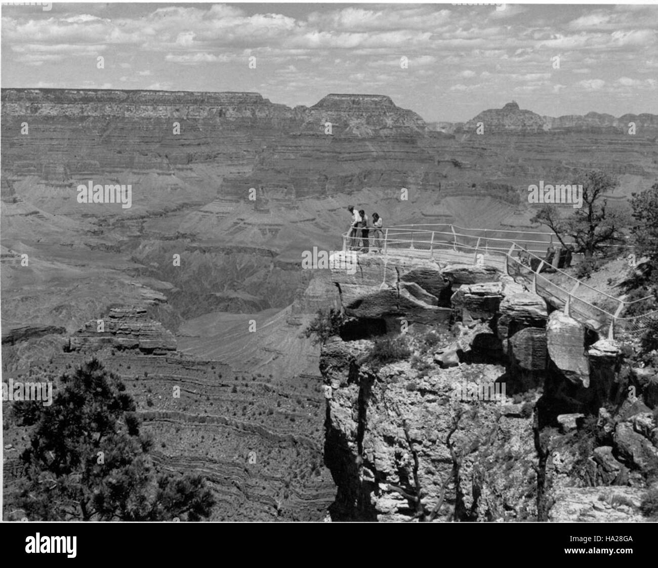
[[[438, 231], [418, 227], [440, 227], [448, 230]], [[399, 225], [382, 229], [382, 231], [382, 238], [378, 240], [383, 243], [383, 254], [389, 254], [393, 250], [398, 254], [403, 251], [404, 254], [409, 254], [410, 251], [413, 251], [411, 252], [413, 256], [422, 256], [422, 254], [427, 253], [430, 258], [434, 258], [435, 253], [442, 251], [442, 256], [449, 262], [456, 262], [456, 260], [464, 262], [468, 256], [467, 262], [470, 261], [473, 264], [480, 265], [485, 264], [486, 256], [490, 256], [489, 261], [496, 258], [498, 264], [504, 266], [508, 275], [524, 278], [530, 283], [535, 293], [551, 300], [553, 304], [562, 305], [565, 314], [572, 316], [580, 323], [599, 333], [607, 328], [609, 339], [613, 339], [615, 335], [619, 337], [623, 334], [640, 333], [647, 327], [649, 321], [658, 319], [658, 310], [647, 311], [640, 316], [621, 317], [624, 310], [631, 304], [654, 300], [655, 298], [652, 295], [630, 302], [611, 296], [548, 264], [544, 258], [538, 256], [536, 253], [544, 255], [547, 253], [547, 247], [552, 244], [551, 233], [507, 231], [505, 229], [467, 229], [447, 224]], [[519, 237], [517, 239], [505, 239], [490, 236], [491, 234], [506, 233], [519, 235], [520, 239]], [[370, 229], [370, 235], [368, 236], [370, 248], [373, 248], [376, 241], [372, 235], [373, 229]], [[537, 235], [547, 238], [529, 238]], [[343, 251], [348, 249], [358, 251], [363, 248], [355, 241], [361, 241], [361, 237], [349, 237], [349, 233], [345, 233], [343, 235]], [[520, 246], [519, 241], [524, 246]], [[529, 248], [530, 246], [535, 248]], [[517, 254], [516, 258], [515, 253]], [[453, 258], [450, 258], [451, 256]], [[491, 264], [491, 262], [487, 264]], [[558, 284], [551, 281], [542, 275], [543, 271], [550, 271], [563, 277], [569, 283], [569, 286], [565, 287], [564, 283]], [[592, 295], [600, 298], [600, 301], [592, 300], [592, 302], [596, 302], [592, 303], [576, 296], [576, 292], [582, 291], [582, 289], [588, 289]]]

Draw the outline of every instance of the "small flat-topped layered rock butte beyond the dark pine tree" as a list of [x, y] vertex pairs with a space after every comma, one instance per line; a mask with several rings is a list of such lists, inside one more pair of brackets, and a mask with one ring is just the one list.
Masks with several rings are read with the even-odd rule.
[[160, 322], [149, 320], [145, 309], [112, 308], [107, 318], [87, 322], [68, 340], [68, 351], [96, 351], [104, 347], [164, 355], [176, 351], [176, 338]]

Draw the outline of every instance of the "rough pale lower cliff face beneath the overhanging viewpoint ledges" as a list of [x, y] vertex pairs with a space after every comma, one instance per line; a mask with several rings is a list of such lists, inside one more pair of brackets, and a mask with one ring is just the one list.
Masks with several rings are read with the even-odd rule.
[[[378, 371], [366, 341], [327, 343], [325, 463], [338, 493], [332, 519], [523, 520], [535, 515], [532, 432], [494, 401], [463, 413], [458, 367], [411, 379], [408, 362]], [[476, 382], [500, 369], [476, 366]], [[415, 497], [420, 496], [419, 499]]]

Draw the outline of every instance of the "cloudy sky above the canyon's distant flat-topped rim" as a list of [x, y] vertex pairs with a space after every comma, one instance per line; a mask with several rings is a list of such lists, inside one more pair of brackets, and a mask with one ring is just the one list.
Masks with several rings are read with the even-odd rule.
[[3, 6], [1, 81], [255, 91], [290, 106], [386, 94], [428, 121], [512, 99], [552, 116], [658, 113], [657, 29], [657, 6], [632, 5]]

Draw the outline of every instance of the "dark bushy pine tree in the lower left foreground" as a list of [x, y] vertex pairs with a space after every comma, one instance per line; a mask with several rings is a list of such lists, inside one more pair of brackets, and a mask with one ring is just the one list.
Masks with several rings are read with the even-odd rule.
[[8, 500], [31, 521], [198, 521], [215, 499], [203, 478], [158, 472], [153, 441], [120, 378], [95, 358], [61, 377], [49, 407], [14, 403], [34, 426], [21, 459], [26, 476]]

